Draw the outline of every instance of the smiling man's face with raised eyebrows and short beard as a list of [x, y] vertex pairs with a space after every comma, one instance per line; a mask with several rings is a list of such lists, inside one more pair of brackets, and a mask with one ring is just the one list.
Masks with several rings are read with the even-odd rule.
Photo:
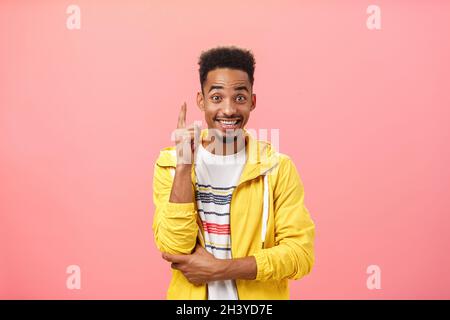
[[256, 106], [256, 95], [246, 72], [219, 68], [208, 73], [197, 104], [205, 113], [208, 129], [223, 142], [231, 142], [241, 132]]

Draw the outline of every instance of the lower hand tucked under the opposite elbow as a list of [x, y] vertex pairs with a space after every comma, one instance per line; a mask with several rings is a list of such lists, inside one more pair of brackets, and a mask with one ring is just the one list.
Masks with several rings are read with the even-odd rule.
[[163, 253], [164, 260], [172, 263], [172, 269], [181, 271], [184, 276], [195, 285], [214, 281], [219, 259], [197, 244], [193, 254], [169, 254]]

